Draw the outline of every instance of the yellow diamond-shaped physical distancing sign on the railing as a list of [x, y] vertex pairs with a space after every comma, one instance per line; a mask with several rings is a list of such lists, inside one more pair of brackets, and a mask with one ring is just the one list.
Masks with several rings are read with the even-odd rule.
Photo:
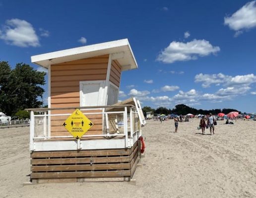
[[93, 123], [79, 109], [76, 109], [63, 123], [76, 140], [80, 139], [92, 125]]

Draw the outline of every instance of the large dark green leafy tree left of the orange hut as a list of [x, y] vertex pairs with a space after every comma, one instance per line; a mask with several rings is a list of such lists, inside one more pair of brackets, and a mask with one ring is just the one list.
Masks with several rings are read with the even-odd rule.
[[0, 61], [0, 108], [6, 115], [18, 110], [37, 108], [43, 104], [45, 72], [38, 72], [24, 63], [11, 70], [6, 61]]

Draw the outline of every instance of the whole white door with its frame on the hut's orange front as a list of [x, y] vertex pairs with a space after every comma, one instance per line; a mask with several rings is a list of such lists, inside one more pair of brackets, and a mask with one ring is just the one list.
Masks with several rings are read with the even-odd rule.
[[103, 103], [104, 81], [80, 81], [80, 106], [100, 106]]

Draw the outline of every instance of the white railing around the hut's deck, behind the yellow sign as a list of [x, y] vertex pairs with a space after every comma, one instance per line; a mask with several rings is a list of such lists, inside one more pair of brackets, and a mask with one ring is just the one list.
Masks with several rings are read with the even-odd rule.
[[[134, 134], [140, 132], [138, 113], [133, 105], [77, 108], [93, 123], [93, 126], [82, 136], [81, 140], [104, 137], [108, 141], [114, 137], [119, 137], [123, 138], [125, 145], [129, 147], [134, 142], [134, 140], [130, 141], [134, 139]], [[30, 111], [30, 148], [33, 148], [34, 142], [42, 140], [65, 139], [73, 141], [73, 136], [63, 124], [71, 112], [77, 108], [27, 109]], [[68, 113], [58, 113], [60, 110]]]

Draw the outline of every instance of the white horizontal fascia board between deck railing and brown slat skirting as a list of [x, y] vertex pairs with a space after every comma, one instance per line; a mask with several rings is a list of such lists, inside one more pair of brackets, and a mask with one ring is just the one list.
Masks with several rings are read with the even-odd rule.
[[[110, 140], [81, 140], [80, 147], [85, 150], [90, 149], [115, 149], [126, 148], [125, 139]], [[50, 150], [77, 150], [77, 141], [40, 141], [35, 142], [34, 151]]]

